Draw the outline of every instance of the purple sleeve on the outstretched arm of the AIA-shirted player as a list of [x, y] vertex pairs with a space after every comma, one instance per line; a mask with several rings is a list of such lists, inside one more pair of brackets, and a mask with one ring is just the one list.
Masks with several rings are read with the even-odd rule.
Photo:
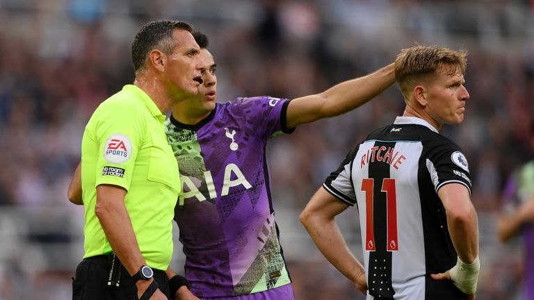
[[291, 133], [292, 128], [286, 128], [286, 112], [288, 99], [274, 97], [238, 98], [248, 124], [264, 139], [271, 138], [278, 133]]

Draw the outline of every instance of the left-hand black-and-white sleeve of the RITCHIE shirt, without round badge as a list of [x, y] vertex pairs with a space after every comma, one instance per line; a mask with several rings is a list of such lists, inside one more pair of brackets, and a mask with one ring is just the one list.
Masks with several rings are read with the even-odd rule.
[[341, 162], [341, 165], [330, 174], [323, 183], [323, 188], [327, 190], [332, 196], [354, 206], [356, 203], [356, 193], [352, 181], [353, 161], [358, 152], [358, 148], [350, 151]]

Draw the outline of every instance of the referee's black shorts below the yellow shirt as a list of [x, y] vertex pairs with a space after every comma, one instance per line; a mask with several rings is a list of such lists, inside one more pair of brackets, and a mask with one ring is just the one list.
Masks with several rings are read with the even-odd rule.
[[[121, 267], [120, 286], [108, 285], [111, 256], [86, 258], [76, 268], [72, 283], [73, 300], [137, 300], [137, 287], [124, 267]], [[169, 298], [167, 274], [154, 269], [159, 290]]]

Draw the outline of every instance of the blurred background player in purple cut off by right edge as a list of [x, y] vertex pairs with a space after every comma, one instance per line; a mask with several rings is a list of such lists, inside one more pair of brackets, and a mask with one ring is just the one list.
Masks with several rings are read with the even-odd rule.
[[[530, 144], [534, 149], [534, 118]], [[501, 242], [521, 236], [524, 247], [523, 297], [534, 300], [534, 160], [513, 172], [503, 191], [503, 212], [497, 221]]]

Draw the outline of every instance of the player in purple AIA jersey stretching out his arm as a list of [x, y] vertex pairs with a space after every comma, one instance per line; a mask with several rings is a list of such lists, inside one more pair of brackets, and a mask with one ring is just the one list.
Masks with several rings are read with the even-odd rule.
[[341, 115], [394, 83], [393, 64], [293, 100], [237, 98], [216, 103], [216, 63], [204, 61], [196, 97], [165, 122], [183, 192], [175, 208], [186, 278], [202, 299], [294, 299], [270, 195], [266, 142], [300, 124]]

